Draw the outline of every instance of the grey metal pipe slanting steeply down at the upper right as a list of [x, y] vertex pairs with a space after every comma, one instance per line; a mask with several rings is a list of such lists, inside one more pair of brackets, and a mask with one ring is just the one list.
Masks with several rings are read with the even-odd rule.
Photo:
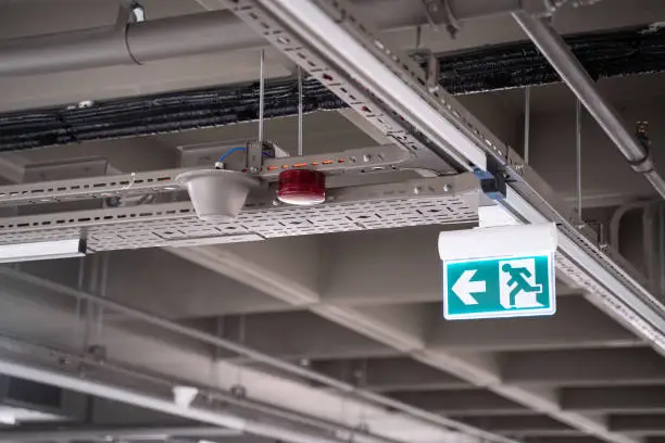
[[619, 114], [602, 97], [591, 76], [585, 71], [556, 30], [550, 24], [524, 11], [513, 13], [513, 17], [607, 137], [616, 144], [630, 166], [637, 173], [642, 174], [658, 194], [665, 198], [665, 180], [655, 170], [649, 150], [635, 135], [626, 129]]

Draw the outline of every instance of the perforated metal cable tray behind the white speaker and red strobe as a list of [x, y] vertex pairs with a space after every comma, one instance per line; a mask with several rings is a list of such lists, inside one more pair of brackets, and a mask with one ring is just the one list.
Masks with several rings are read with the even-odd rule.
[[[171, 180], [160, 181], [158, 176], [145, 185], [147, 193], [180, 190], [173, 187]], [[26, 185], [25, 190], [34, 186]], [[53, 189], [48, 183], [40, 183], [40, 187]], [[113, 194], [136, 193], [136, 188], [124, 187], [115, 189]], [[14, 195], [26, 195], [21, 186], [0, 187], [0, 194], [8, 194], [5, 188], [17, 192]], [[63, 188], [62, 191], [49, 191], [48, 201], [71, 197], [71, 189]], [[330, 189], [326, 203], [309, 207], [275, 205], [272, 197], [254, 198], [248, 201], [237, 219], [224, 224], [200, 220], [189, 201], [13, 216], [0, 218], [0, 244], [83, 238], [88, 250], [108, 251], [421, 225], [468, 225], [478, 219], [478, 192], [477, 178], [473, 174], [462, 174]]]

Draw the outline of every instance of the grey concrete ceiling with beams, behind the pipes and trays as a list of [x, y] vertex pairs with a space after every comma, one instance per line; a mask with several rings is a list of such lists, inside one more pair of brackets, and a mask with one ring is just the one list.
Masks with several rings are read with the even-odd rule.
[[[149, 20], [219, 8], [214, 0], [142, 3]], [[356, 3], [367, 8], [371, 0]], [[413, 3], [407, 8], [419, 5]], [[374, 12], [379, 23], [389, 23], [397, 14], [380, 5]], [[116, 2], [112, 1], [4, 0], [0, 1], [0, 38], [109, 25], [115, 14]], [[604, 0], [589, 8], [566, 9], [554, 24], [562, 33], [576, 33], [664, 20], [665, 4], [658, 0]], [[422, 30], [421, 45], [435, 52], [524, 39], [506, 17], [465, 22], [454, 40], [427, 26]], [[415, 48], [413, 27], [386, 30], [385, 37], [396, 47]], [[258, 60], [258, 51], [237, 51], [146, 66], [3, 77], [0, 110], [250, 81], [256, 78]], [[268, 77], [288, 76], [292, 69], [277, 51], [268, 52]], [[665, 117], [661, 100], [664, 85], [662, 74], [600, 83], [626, 122], [652, 123], [650, 135], [661, 170], [665, 170], [665, 155], [657, 150], [665, 140], [665, 126], [660, 124]], [[503, 141], [523, 145], [523, 90], [460, 100]], [[574, 199], [573, 96], [563, 85], [534, 88], [531, 110], [531, 166], [561, 197]], [[251, 139], [255, 134], [256, 125], [251, 123], [3, 153], [0, 175], [5, 181], [18, 182], [34, 168], [52, 167], [54, 162], [70, 165], [62, 174], [85, 175], [89, 162], [100, 159], [116, 172], [178, 167], [183, 148]], [[266, 134], [279, 147], [294, 152], [293, 118], [267, 122]], [[654, 192], [589, 116], [585, 117], [582, 135], [584, 206], [589, 218], [608, 232], [616, 206], [652, 199]], [[304, 119], [306, 153], [382, 141], [347, 112], [319, 112]], [[495, 435], [535, 443], [637, 443], [643, 439], [656, 443], [665, 438], [665, 359], [599, 309], [591, 302], [593, 294], [563, 276], [559, 276], [559, 306], [552, 318], [443, 321], [436, 250], [440, 229], [121, 251], [86, 258], [83, 274], [80, 263], [72, 260], [22, 264], [0, 273], [0, 342], [14, 343], [3, 345], [2, 355], [148, 389], [135, 380], [136, 375], [111, 376], [113, 365], [99, 368], [68, 359], [63, 363], [53, 358], [57, 353], [41, 352], [43, 347], [35, 355], [17, 352], [21, 345], [15, 343], [39, 344], [73, 355], [87, 355], [90, 345], [103, 345], [105, 358], [117, 367], [131, 366], [137, 372], [218, 390], [242, 385], [252, 401], [350, 428], [367, 427], [385, 438], [424, 443], [463, 438], [126, 314], [113, 309], [100, 313], [43, 283], [54, 281], [88, 292], [101, 291], [110, 300], [175, 324]], [[624, 244], [623, 249], [631, 251], [628, 258], [647, 271], [640, 262], [642, 237], [643, 232], [635, 229], [624, 233], [622, 241], [635, 246]], [[103, 267], [102, 279], [95, 269], [102, 273], [99, 269]], [[26, 281], [22, 279], [25, 275], [43, 281]], [[98, 288], [100, 279], [105, 281], [102, 289]], [[140, 426], [155, 431], [167, 426], [200, 426], [121, 403], [90, 402], [88, 413], [80, 405], [73, 408], [71, 425]], [[244, 436], [221, 441], [234, 439], [251, 441]]]

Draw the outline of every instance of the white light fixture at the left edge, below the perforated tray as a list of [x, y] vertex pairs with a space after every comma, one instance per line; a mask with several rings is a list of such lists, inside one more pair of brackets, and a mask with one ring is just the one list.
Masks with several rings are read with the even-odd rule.
[[81, 257], [84, 255], [86, 255], [86, 242], [81, 239], [0, 244], [0, 263]]

